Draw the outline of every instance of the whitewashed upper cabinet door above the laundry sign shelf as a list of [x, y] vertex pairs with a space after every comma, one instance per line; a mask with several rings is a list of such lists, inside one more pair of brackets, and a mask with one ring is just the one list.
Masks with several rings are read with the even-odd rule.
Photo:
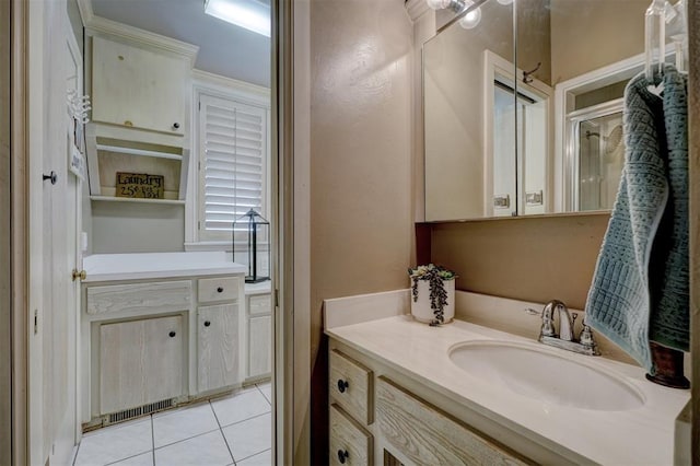
[[92, 119], [182, 135], [189, 63], [185, 58], [103, 37], [92, 39]]

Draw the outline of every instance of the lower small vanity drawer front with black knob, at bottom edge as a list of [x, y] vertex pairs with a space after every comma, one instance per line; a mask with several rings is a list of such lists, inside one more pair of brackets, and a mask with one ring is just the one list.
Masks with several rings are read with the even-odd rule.
[[372, 434], [338, 405], [330, 405], [330, 464], [371, 466], [373, 451]]

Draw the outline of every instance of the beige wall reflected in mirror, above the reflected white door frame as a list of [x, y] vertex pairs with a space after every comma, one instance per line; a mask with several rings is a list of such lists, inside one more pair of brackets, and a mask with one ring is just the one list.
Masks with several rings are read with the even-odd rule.
[[644, 51], [650, 0], [550, 0], [552, 85]]

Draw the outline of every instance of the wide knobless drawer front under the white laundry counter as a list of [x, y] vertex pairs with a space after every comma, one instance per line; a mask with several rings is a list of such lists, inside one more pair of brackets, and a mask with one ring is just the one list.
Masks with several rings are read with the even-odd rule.
[[86, 312], [91, 315], [122, 311], [187, 311], [191, 305], [191, 281], [160, 281], [88, 288]]

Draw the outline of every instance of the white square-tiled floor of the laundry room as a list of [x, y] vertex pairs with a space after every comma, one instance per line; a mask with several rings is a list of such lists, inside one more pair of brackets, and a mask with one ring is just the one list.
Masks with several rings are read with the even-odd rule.
[[270, 384], [83, 435], [74, 466], [270, 466]]

